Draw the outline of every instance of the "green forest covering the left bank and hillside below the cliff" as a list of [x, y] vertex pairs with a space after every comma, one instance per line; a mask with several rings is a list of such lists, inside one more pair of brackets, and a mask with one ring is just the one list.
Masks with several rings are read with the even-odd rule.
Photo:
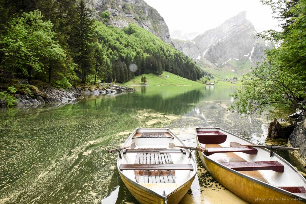
[[2, 87], [16, 78], [67, 88], [163, 71], [202, 77], [189, 57], [152, 33], [136, 24], [107, 26], [109, 18], [95, 16], [84, 0], [0, 0]]

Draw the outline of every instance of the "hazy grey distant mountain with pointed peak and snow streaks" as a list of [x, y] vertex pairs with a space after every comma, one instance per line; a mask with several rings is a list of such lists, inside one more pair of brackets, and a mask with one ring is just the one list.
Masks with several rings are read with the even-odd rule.
[[255, 65], [262, 60], [264, 50], [272, 47], [271, 43], [257, 39], [256, 34], [257, 31], [243, 11], [192, 40], [173, 39], [173, 42], [177, 49], [196, 61], [207, 65], [211, 62], [217, 67], [235, 67], [236, 61], [249, 61], [247, 64]]

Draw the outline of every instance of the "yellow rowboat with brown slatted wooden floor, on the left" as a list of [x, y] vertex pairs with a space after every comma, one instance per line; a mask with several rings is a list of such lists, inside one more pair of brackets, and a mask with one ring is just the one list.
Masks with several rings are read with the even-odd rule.
[[118, 172], [138, 202], [176, 204], [189, 190], [196, 160], [190, 150], [169, 143], [185, 146], [168, 128], [136, 128], [124, 143], [133, 149], [120, 150]]

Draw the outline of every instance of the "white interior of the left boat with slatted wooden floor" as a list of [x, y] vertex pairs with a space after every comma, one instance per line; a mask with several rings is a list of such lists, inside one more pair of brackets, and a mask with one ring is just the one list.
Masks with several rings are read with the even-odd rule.
[[130, 180], [159, 195], [171, 193], [196, 174], [196, 162], [189, 150], [169, 148], [169, 143], [185, 146], [167, 128], [137, 128], [124, 146], [135, 143], [134, 149], [122, 150], [118, 167]]

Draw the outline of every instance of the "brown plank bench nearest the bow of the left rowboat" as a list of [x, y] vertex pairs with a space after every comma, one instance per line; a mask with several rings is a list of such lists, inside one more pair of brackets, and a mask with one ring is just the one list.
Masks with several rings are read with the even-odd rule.
[[192, 164], [121, 164], [122, 170], [190, 170], [193, 171]]

